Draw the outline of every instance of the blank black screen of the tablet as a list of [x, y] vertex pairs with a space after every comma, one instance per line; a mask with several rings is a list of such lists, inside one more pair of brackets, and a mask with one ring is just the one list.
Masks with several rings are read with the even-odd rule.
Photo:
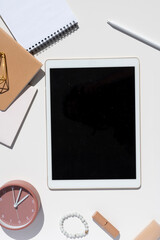
[[134, 67], [50, 69], [52, 179], [135, 179]]

